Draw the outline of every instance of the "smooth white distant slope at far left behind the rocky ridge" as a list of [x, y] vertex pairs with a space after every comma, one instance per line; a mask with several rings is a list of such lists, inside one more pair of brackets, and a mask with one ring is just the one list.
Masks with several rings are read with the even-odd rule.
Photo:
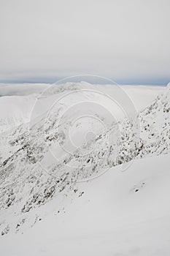
[[38, 95], [47, 86], [49, 85], [0, 83], [0, 133], [28, 123]]

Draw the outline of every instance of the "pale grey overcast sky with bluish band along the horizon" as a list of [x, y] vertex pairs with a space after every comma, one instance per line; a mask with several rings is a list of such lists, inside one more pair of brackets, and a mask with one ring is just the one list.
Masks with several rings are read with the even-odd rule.
[[0, 81], [170, 81], [169, 0], [0, 0]]

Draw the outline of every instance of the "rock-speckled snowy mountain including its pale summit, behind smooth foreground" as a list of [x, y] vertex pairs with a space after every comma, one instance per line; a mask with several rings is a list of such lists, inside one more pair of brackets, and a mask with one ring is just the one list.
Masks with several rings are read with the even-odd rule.
[[[30, 126], [21, 125], [1, 138], [3, 235], [20, 230], [26, 223], [34, 225], [39, 219], [36, 211], [43, 211], [41, 207], [52, 197], [62, 202], [63, 195], [67, 197], [74, 191], [81, 197], [76, 181], [96, 178], [110, 167], [133, 159], [170, 152], [169, 88], [139, 115], [129, 114], [123, 121], [116, 121], [109, 110], [119, 116], [120, 108], [110, 108], [115, 102], [106, 99], [102, 91], [96, 94], [93, 86], [87, 91], [87, 84], [83, 84], [86, 91], [77, 91], [77, 85], [69, 86], [69, 94], [68, 87], [48, 91], [35, 106]], [[45, 100], [49, 102], [49, 97], [53, 108], [37, 118], [36, 110]], [[79, 108], [75, 108], [77, 102]], [[122, 166], [122, 170], [126, 168]]]

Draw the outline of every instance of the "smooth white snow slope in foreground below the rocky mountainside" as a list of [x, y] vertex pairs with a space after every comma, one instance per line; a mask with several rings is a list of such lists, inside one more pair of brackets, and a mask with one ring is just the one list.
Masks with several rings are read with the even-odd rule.
[[1, 237], [0, 254], [169, 256], [169, 165], [169, 155], [135, 160], [55, 195], [34, 209], [37, 225], [20, 219], [18, 234]]

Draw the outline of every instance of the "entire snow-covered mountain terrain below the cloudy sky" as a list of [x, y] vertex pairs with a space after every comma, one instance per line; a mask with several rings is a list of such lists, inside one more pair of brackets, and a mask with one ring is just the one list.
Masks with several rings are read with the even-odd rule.
[[0, 97], [0, 255], [170, 255], [170, 86], [41, 90]]

